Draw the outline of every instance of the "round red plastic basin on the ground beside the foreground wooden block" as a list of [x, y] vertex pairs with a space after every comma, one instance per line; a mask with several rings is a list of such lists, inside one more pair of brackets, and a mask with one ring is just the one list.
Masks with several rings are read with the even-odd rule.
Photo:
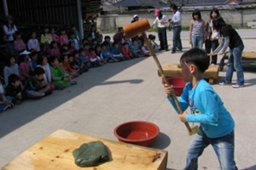
[[121, 142], [151, 146], [160, 129], [152, 122], [133, 121], [120, 124], [114, 128], [113, 133]]

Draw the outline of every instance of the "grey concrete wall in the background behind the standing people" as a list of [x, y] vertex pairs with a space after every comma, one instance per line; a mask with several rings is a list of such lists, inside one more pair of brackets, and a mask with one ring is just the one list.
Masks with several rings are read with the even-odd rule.
[[[118, 27], [125, 26], [131, 23], [132, 17], [135, 13], [131, 14], [108, 14], [102, 15], [97, 18], [97, 29], [101, 32], [116, 31]], [[172, 14], [168, 11], [163, 12], [168, 17]], [[210, 11], [202, 11], [201, 16], [203, 20], [209, 19]], [[220, 10], [220, 14], [224, 20], [232, 26], [247, 26], [247, 22], [256, 19], [256, 8], [239, 9], [239, 10]], [[149, 23], [154, 22], [154, 13], [139, 13], [140, 19], [147, 18]], [[189, 21], [192, 19], [192, 12], [182, 12], [183, 26], [189, 26]]]

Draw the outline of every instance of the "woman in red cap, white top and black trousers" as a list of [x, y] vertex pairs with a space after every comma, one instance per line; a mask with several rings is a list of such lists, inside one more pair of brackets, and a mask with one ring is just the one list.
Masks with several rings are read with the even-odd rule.
[[169, 19], [166, 17], [166, 15], [162, 14], [159, 9], [154, 11], [154, 16], [156, 16], [156, 18], [151, 28], [153, 28], [155, 24], [157, 25], [158, 37], [160, 41], [160, 50], [165, 49], [166, 51], [168, 51], [166, 24], [169, 23]]

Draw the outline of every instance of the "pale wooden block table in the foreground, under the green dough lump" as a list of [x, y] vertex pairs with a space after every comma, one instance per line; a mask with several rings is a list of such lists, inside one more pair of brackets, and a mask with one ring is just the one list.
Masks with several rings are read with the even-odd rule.
[[[111, 152], [111, 161], [97, 167], [78, 167], [74, 163], [73, 150], [81, 144], [102, 141]], [[156, 150], [57, 130], [9, 162], [2, 170], [164, 170], [167, 151]]]

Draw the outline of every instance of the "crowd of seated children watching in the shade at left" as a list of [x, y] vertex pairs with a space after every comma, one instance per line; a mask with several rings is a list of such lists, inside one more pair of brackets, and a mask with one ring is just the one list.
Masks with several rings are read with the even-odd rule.
[[[24, 99], [40, 99], [55, 89], [74, 85], [77, 82], [73, 78], [91, 67], [151, 55], [141, 38], [122, 37], [120, 41], [113, 38], [112, 42], [109, 36], [101, 41], [96, 35], [90, 32], [81, 41], [75, 27], [67, 36], [65, 29], [58, 34], [46, 26], [40, 38], [33, 31], [25, 43], [16, 31], [15, 54], [7, 57], [3, 67], [0, 111], [19, 105]], [[158, 52], [154, 35], [149, 35], [148, 40]]]

